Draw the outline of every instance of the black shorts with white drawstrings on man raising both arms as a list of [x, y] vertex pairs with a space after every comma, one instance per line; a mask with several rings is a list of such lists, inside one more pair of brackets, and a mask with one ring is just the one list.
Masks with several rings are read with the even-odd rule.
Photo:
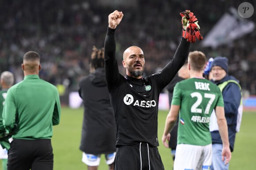
[[145, 143], [117, 147], [114, 170], [149, 169], [164, 170], [157, 147], [149, 147]]

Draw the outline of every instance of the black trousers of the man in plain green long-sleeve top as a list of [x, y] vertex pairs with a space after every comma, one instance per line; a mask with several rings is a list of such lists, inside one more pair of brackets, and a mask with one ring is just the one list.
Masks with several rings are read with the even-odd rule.
[[8, 150], [8, 170], [53, 170], [50, 139], [14, 139]]

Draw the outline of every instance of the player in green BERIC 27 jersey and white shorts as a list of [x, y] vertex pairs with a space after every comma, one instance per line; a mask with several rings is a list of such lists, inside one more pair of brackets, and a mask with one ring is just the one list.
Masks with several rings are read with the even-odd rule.
[[222, 93], [218, 86], [204, 79], [205, 64], [205, 54], [200, 51], [190, 52], [188, 54], [190, 78], [177, 83], [174, 87], [172, 105], [162, 136], [163, 144], [168, 147], [166, 140], [170, 139], [169, 132], [179, 114], [174, 170], [211, 168], [212, 145], [209, 122], [213, 109], [223, 142], [222, 159], [226, 157], [225, 163], [231, 159]]

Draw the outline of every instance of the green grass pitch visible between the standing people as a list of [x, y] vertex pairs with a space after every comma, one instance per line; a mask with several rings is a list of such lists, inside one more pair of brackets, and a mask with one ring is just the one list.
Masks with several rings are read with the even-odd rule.
[[[158, 147], [166, 170], [173, 169], [170, 149], [162, 145], [162, 133], [168, 111], [158, 114]], [[53, 127], [54, 170], [87, 170], [82, 163], [79, 150], [83, 109], [62, 108], [60, 125]], [[230, 170], [253, 170], [256, 167], [256, 111], [244, 112], [241, 130], [237, 133], [234, 152], [230, 161]], [[95, 139], [97, 140], [97, 139]], [[0, 170], [1, 170], [0, 166]], [[108, 170], [102, 156], [98, 170]]]

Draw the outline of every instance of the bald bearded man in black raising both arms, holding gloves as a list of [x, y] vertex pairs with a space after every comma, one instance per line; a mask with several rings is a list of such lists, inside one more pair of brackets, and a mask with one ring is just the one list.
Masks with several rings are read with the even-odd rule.
[[192, 25], [196, 26], [198, 22], [193, 13], [185, 11], [184, 14], [188, 17], [182, 17], [185, 33], [172, 60], [162, 71], [145, 78], [142, 76], [146, 55], [137, 46], [128, 47], [124, 51], [122, 64], [126, 69], [126, 75], [122, 76], [119, 73], [115, 57], [115, 33], [124, 14], [117, 10], [109, 14], [104, 48], [107, 87], [117, 125], [115, 170], [164, 170], [158, 152], [159, 95], [184, 65], [189, 42], [195, 42], [195, 39], [187, 37], [187, 31], [199, 33], [198, 29], [187, 29], [192, 28]]

